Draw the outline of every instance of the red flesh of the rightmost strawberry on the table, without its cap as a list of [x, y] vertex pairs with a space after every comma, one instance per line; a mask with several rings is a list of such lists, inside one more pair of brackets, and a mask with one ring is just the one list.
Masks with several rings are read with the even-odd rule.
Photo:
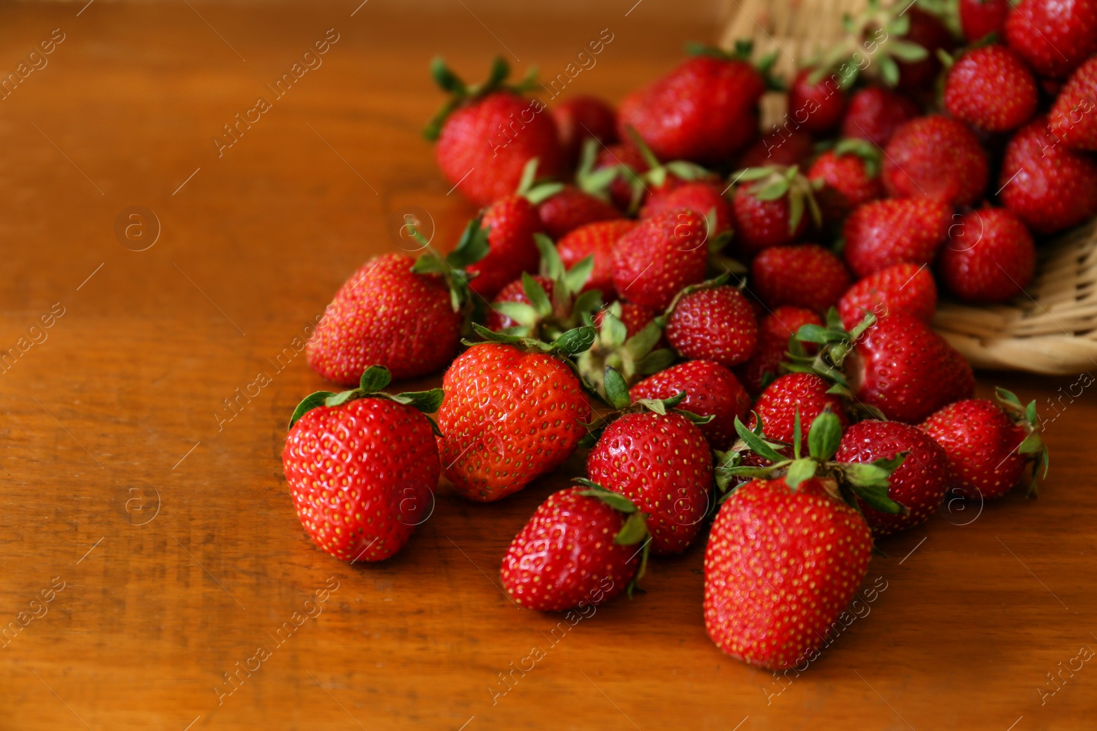
[[1026, 432], [993, 401], [957, 401], [921, 429], [948, 455], [947, 489], [968, 498], [1000, 498], [1020, 482], [1026, 458], [1017, 453]]

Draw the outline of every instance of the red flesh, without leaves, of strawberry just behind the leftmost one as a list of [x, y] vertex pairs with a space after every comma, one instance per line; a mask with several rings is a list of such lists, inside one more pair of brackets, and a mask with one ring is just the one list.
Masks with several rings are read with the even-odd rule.
[[357, 386], [371, 365], [404, 379], [436, 373], [453, 359], [462, 316], [453, 311], [445, 283], [415, 274], [414, 263], [403, 254], [384, 254], [347, 279], [306, 345], [313, 370]]

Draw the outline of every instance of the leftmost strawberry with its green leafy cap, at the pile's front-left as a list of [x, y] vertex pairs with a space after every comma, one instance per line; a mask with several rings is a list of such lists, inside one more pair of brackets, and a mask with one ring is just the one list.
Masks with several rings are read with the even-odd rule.
[[318, 391], [293, 412], [282, 467], [297, 517], [325, 552], [343, 561], [381, 561], [426, 521], [438, 484], [441, 389], [389, 396], [386, 368], [372, 366], [359, 387]]

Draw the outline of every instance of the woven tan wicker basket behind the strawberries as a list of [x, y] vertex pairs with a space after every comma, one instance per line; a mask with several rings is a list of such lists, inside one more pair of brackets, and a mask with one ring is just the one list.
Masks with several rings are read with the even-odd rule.
[[[798, 62], [841, 36], [844, 13], [863, 7], [864, 0], [727, 0], [722, 43], [753, 38], [759, 55], [777, 52], [774, 70], [789, 79]], [[764, 129], [780, 124], [785, 106], [782, 94], [767, 94]], [[934, 327], [977, 368], [1066, 375], [1097, 367], [1097, 221], [1041, 245], [1028, 294], [997, 306], [942, 301]]]

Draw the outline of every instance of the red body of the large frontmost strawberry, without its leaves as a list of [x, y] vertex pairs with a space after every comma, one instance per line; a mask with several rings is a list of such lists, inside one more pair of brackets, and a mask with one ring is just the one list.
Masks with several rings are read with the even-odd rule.
[[864, 580], [869, 527], [826, 487], [754, 480], [721, 506], [704, 553], [704, 626], [733, 658], [772, 670], [817, 659]]

